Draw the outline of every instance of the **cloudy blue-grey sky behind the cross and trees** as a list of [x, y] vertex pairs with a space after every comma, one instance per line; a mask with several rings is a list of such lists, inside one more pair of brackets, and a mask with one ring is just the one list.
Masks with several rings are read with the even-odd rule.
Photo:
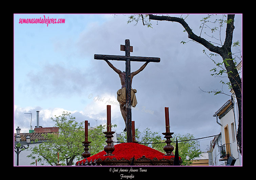
[[[187, 14], [170, 15], [185, 18]], [[220, 44], [224, 42], [225, 27], [212, 34], [207, 26], [199, 28], [207, 14], [190, 14], [186, 22], [196, 35]], [[20, 19], [65, 19], [62, 24], [26, 24]], [[138, 104], [132, 108], [132, 120], [140, 131], [165, 132], [164, 107], [169, 107], [171, 132], [193, 134], [195, 138], [220, 133], [213, 114], [229, 99], [224, 94], [204, 91], [228, 87], [220, 84], [227, 78], [211, 76], [215, 67], [204, 53], [202, 45], [188, 42], [188, 34], [176, 22], [151, 21], [153, 28], [139, 22], [129, 23], [128, 14], [15, 14], [14, 15], [14, 132], [21, 133], [36, 126], [36, 111], [40, 111], [40, 126], [53, 127], [51, 117], [63, 111], [71, 112], [76, 120], [88, 120], [91, 126], [106, 124], [106, 105], [111, 105], [111, 122], [116, 132], [124, 129], [124, 121], [116, 100], [121, 88], [120, 78], [103, 60], [94, 54], [125, 55], [120, 51], [125, 39], [133, 46], [132, 56], [159, 57], [160, 63], [149, 63], [134, 76], [132, 88], [137, 89]], [[214, 15], [211, 21], [221, 19]], [[218, 24], [208, 23], [214, 27]], [[201, 32], [202, 30], [202, 32]], [[206, 33], [204, 33], [206, 32]], [[181, 41], [188, 42], [182, 44]], [[233, 42], [242, 43], [242, 15], [235, 15]], [[216, 44], [215, 44], [216, 45]], [[219, 45], [220, 46], [220, 45]], [[236, 52], [242, 46], [232, 49]], [[221, 62], [220, 57], [214, 59]], [[124, 61], [110, 61], [121, 71]], [[144, 63], [131, 62], [131, 72]], [[199, 87], [202, 89], [200, 90]], [[97, 121], [96, 121], [97, 120]], [[210, 140], [201, 139], [201, 151]]]

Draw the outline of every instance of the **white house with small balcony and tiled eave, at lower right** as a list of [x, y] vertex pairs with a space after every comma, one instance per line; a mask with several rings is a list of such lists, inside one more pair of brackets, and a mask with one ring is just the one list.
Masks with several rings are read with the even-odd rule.
[[235, 166], [242, 165], [242, 157], [239, 153], [239, 147], [236, 140], [238, 108], [235, 102], [235, 98], [228, 100], [213, 115], [216, 117], [216, 123], [220, 125], [221, 133], [217, 138], [215, 137], [210, 144], [211, 151], [209, 151], [209, 153], [212, 152], [210, 153], [212, 154], [212, 165], [225, 165], [229, 156], [233, 156], [236, 159]]

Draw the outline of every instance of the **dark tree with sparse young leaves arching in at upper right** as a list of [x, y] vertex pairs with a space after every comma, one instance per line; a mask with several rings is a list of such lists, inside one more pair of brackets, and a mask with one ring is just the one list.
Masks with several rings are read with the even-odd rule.
[[[225, 69], [225, 73], [228, 74], [228, 78], [230, 81], [228, 85], [231, 85], [232, 89], [235, 92], [235, 96], [238, 103], [238, 113], [239, 113], [238, 130], [237, 130], [236, 137], [237, 137], [237, 142], [239, 146], [239, 151], [240, 153], [242, 153], [242, 80], [236, 69], [235, 58], [233, 58], [234, 53], [232, 53], [231, 51], [232, 47], [239, 45], [238, 41], [236, 41], [235, 43], [232, 43], [233, 32], [235, 29], [235, 26], [234, 26], [235, 15], [234, 14], [228, 14], [227, 16], [223, 15], [223, 18], [210, 21], [210, 18], [213, 16], [214, 15], [208, 15], [207, 17], [201, 20], [202, 23], [199, 27], [201, 28], [200, 35], [196, 35], [193, 32], [193, 30], [189, 27], [189, 25], [186, 23], [185, 19], [188, 16], [185, 18], [182, 18], [182, 17], [171, 17], [169, 15], [161, 16], [161, 15], [152, 15], [152, 14], [148, 14], [148, 15], [137, 14], [137, 15], [131, 15], [127, 23], [131, 23], [134, 21], [137, 24], [140, 20], [142, 20], [143, 25], [146, 25], [147, 27], [152, 28], [152, 24], [151, 24], [152, 20], [155, 20], [157, 22], [158, 21], [177, 22], [184, 27], [184, 32], [188, 33], [188, 38], [190, 39], [189, 41], [193, 41], [203, 45], [209, 51], [215, 53], [216, 55], [219, 55], [222, 58], [223, 62], [221, 64], [217, 64], [217, 63], [215, 64], [217, 66], [223, 65], [223, 70]], [[218, 24], [219, 27], [210, 27], [211, 26], [209, 25], [210, 23], [213, 23], [213, 25]], [[226, 25], [226, 33], [225, 33], [225, 40], [224, 42], [222, 42], [223, 39], [220, 36], [221, 35], [220, 31], [221, 29], [223, 29], [224, 25]], [[206, 28], [210, 28], [210, 31], [212, 33], [215, 31], [219, 31], [219, 37], [213, 37], [206, 33], [202, 34], [202, 30], [203, 29], [205, 30]], [[202, 38], [203, 36], [204, 38]], [[218, 41], [216, 42], [210, 41], [208, 40], [209, 37]], [[184, 44], [186, 42], [182, 41], [181, 43]], [[213, 71], [216, 72], [215, 69], [213, 69]], [[219, 74], [217, 73], [216, 75], [219, 75]], [[223, 81], [221, 83], [223, 83]]]

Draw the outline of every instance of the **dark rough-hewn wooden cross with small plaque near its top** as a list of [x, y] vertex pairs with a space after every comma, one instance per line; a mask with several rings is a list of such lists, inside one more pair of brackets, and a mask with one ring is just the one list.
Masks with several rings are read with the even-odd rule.
[[126, 86], [126, 130], [127, 142], [132, 142], [132, 106], [131, 106], [131, 61], [138, 62], [160, 62], [160, 58], [130, 56], [133, 52], [133, 46], [130, 46], [130, 40], [125, 40], [125, 45], [120, 46], [121, 51], [125, 51], [125, 55], [102, 55], [94, 54], [97, 60], [117, 60], [125, 61], [125, 86]]

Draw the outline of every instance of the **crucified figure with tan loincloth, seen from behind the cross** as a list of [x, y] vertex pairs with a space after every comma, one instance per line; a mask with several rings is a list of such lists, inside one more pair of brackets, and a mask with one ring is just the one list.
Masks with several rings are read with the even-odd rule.
[[[125, 88], [125, 71], [120, 71], [119, 69], [117, 69], [115, 66], [113, 66], [113, 64], [111, 64], [108, 60], [105, 60], [106, 63], [116, 72], [118, 73], [119, 77], [120, 77], [120, 81], [121, 81], [121, 89], [119, 89], [117, 91], [117, 100], [120, 104], [120, 110], [121, 110], [121, 114], [123, 116], [123, 120], [125, 122], [125, 128], [123, 131], [126, 131], [126, 88]], [[149, 62], [146, 62], [145, 64], [143, 64], [137, 71], [134, 71], [131, 73], [131, 87], [132, 87], [132, 80], [133, 80], [133, 77], [138, 74], [139, 72], [141, 72], [145, 67], [146, 65], [148, 64]], [[135, 93], [137, 92], [136, 89], [132, 89], [131, 88], [131, 104], [132, 104], [132, 107], [135, 108], [135, 106], [137, 105], [137, 99], [136, 99], [136, 96], [135, 96]]]

